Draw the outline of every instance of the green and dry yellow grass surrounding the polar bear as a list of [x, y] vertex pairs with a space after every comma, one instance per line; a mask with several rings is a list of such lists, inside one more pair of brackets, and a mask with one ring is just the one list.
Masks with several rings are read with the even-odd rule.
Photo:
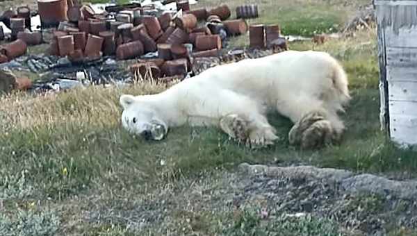
[[[245, 1], [250, 2], [254, 1]], [[259, 4], [261, 17], [250, 22], [279, 23], [284, 34], [309, 36], [313, 33], [332, 32], [352, 16], [352, 9], [357, 4], [363, 3], [352, 1], [350, 5], [342, 7], [342, 2], [264, 0]], [[220, 1], [201, 0], [199, 6], [215, 6], [217, 3]], [[243, 1], [232, 0], [227, 3], [234, 9], [234, 6]], [[0, 222], [0, 229], [3, 225], [11, 227], [13, 222], [21, 222], [19, 219], [23, 220], [24, 217], [33, 218], [33, 224], [36, 225], [44, 213], [49, 216], [48, 222], [51, 223], [48, 224], [51, 228], [55, 229], [56, 224], [60, 224], [60, 230], [69, 235], [133, 235], [126, 222], [120, 223], [115, 219], [101, 221], [99, 224], [83, 222], [77, 227], [79, 219], [75, 218], [83, 210], [100, 204], [106, 205], [106, 208], [129, 208], [129, 204], [134, 203], [147, 206], [145, 212], [151, 211], [150, 208], [158, 209], [158, 201], [161, 199], [158, 199], [158, 194], [149, 195], [153, 189], [163, 191], [165, 187], [161, 186], [165, 184], [176, 185], [178, 180], [195, 178], [204, 171], [233, 171], [241, 162], [269, 165], [303, 163], [358, 172], [395, 172], [405, 173], [407, 177], [415, 176], [415, 153], [395, 148], [379, 130], [375, 40], [375, 31], [362, 31], [357, 37], [329, 40], [322, 45], [311, 42], [290, 44], [291, 49], [328, 51], [343, 63], [350, 78], [353, 101], [343, 115], [347, 124], [343, 142], [315, 151], [300, 151], [289, 146], [286, 135], [292, 124], [288, 119], [274, 114], [270, 115], [271, 123], [277, 127], [283, 139], [275, 146], [259, 151], [238, 146], [214, 128], [174, 128], [162, 142], [145, 142], [132, 137], [120, 126], [122, 110], [117, 100], [124, 93], [146, 94], [165, 89], [149, 84], [87, 87], [44, 96], [17, 92], [2, 97], [0, 199], [6, 212], [0, 215], [0, 221], [6, 223]], [[234, 46], [246, 43], [247, 35], [231, 40]], [[182, 188], [187, 189], [187, 186]], [[170, 197], [172, 195], [167, 194], [166, 199]], [[28, 209], [27, 206], [33, 203], [38, 212], [30, 212]], [[58, 209], [58, 212], [50, 213], [47, 210], [49, 207]], [[15, 217], [16, 212], [22, 209], [23, 218]], [[60, 223], [55, 219], [56, 214], [60, 216]], [[183, 219], [188, 214], [190, 221]], [[245, 217], [229, 222], [229, 226], [218, 222], [219, 217], [227, 219], [228, 214], [219, 216], [210, 209], [186, 210], [184, 207], [184, 212], [172, 212], [170, 215], [177, 222], [171, 228], [187, 226], [193, 230], [199, 228], [206, 235], [213, 235], [213, 232], [219, 232], [216, 227], [220, 224], [227, 235], [259, 235], [253, 234], [251, 230], [265, 230], [277, 225], [284, 227], [281, 221], [277, 221], [281, 222], [279, 224], [264, 226], [259, 224], [259, 219], [254, 218], [252, 213], [245, 214]], [[330, 221], [315, 218], [304, 223], [288, 223], [292, 228], [290, 233], [300, 235], [300, 230], [310, 225], [324, 224], [332, 227]], [[247, 228], [248, 224], [250, 228]], [[149, 235], [157, 235], [156, 228], [148, 230], [154, 232]], [[398, 235], [401, 232], [411, 235], [407, 229], [398, 232]]]

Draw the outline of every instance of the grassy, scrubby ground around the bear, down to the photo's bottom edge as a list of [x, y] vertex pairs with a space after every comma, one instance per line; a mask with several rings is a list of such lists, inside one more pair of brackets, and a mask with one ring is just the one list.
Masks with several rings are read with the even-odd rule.
[[[232, 9], [249, 2], [261, 6], [251, 23], [279, 23], [284, 34], [304, 36], [343, 28], [369, 3], [227, 1]], [[230, 47], [244, 44], [247, 35]], [[379, 130], [375, 28], [289, 47], [327, 51], [347, 70], [353, 100], [341, 144], [316, 151], [288, 146], [291, 122], [277, 115], [270, 118], [284, 139], [268, 149], [246, 149], [211, 128], [176, 128], [163, 142], [145, 142], [121, 128], [118, 98], [165, 89], [149, 84], [2, 97], [0, 234], [417, 235], [412, 196], [352, 194], [329, 180], [241, 170], [247, 162], [416, 177], [416, 154], [395, 148]], [[300, 212], [306, 215], [288, 215]]]

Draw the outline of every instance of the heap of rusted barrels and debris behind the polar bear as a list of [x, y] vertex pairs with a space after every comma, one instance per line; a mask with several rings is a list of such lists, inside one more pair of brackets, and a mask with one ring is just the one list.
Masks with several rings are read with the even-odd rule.
[[[160, 81], [189, 78], [199, 71], [194, 67], [207, 66], [198, 65], [204, 58], [212, 61], [218, 58], [215, 63], [245, 58], [247, 49], [231, 55], [224, 45], [227, 37], [246, 35], [248, 31], [249, 50], [261, 48], [276, 52], [287, 49], [286, 38], [281, 35], [279, 26], [247, 24], [245, 19], [258, 17], [256, 5], [236, 8], [238, 19], [230, 19], [231, 9], [225, 3], [211, 9], [193, 9], [190, 5], [188, 0], [142, 1], [98, 8], [76, 0], [38, 0], [40, 31], [33, 31], [31, 24], [26, 24], [31, 18], [28, 15], [33, 14], [27, 7], [18, 8], [19, 14], [14, 11], [3, 13], [5, 20], [2, 21], [8, 22], [8, 19], [13, 25], [12, 35], [18, 33], [17, 40], [1, 47], [0, 63], [6, 62], [4, 67], [15, 66], [42, 73], [45, 75], [42, 79], [50, 81], [40, 82], [42, 86], [33, 83], [33, 87], [56, 90], [57, 86], [70, 86], [68, 81], [62, 82], [65, 85], [58, 81], [76, 80], [79, 78], [75, 76], [76, 72], [86, 69], [92, 71], [90, 75], [85, 73], [88, 75], [85, 80], [90, 83], [112, 81], [115, 74], [106, 74], [104, 67], [115, 69], [117, 75], [129, 71], [120, 76], [126, 81], [132, 81], [132, 76], [141, 79], [151, 76]], [[42, 56], [13, 60], [26, 53], [27, 45], [42, 43], [49, 44]], [[275, 50], [277, 48], [279, 50]], [[133, 60], [127, 62], [132, 63], [131, 67], [120, 69], [118, 65], [124, 63], [122, 60]]]

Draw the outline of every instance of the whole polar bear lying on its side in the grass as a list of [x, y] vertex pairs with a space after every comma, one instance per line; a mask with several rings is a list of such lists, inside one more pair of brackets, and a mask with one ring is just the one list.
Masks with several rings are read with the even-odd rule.
[[146, 140], [161, 140], [169, 128], [216, 126], [250, 146], [278, 139], [266, 117], [291, 119], [291, 145], [304, 149], [337, 142], [345, 126], [338, 117], [350, 101], [339, 62], [320, 51], [284, 51], [218, 65], [158, 94], [122, 94], [122, 126]]

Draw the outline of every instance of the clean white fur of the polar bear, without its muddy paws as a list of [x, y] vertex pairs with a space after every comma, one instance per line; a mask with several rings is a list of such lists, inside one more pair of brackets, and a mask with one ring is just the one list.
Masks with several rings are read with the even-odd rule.
[[[159, 94], [122, 95], [120, 103], [124, 106], [123, 126], [136, 133], [150, 119], [168, 127], [219, 126], [222, 117], [233, 114], [254, 126], [269, 126], [264, 116], [268, 110], [294, 123], [309, 112], [323, 110], [333, 128], [341, 132], [344, 126], [337, 112], [349, 100], [345, 71], [332, 56], [284, 51], [212, 67]], [[129, 123], [133, 117], [140, 122]]]

